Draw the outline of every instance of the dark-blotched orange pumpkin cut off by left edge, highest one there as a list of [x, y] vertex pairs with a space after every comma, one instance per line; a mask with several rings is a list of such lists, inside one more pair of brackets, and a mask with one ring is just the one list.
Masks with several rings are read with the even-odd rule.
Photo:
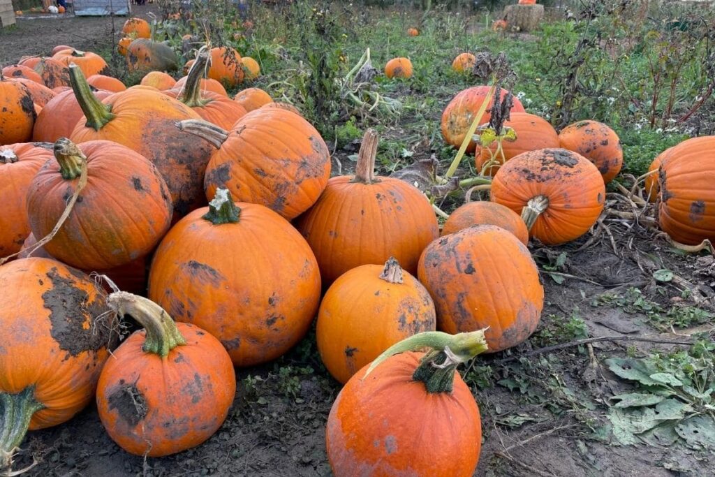
[[32, 94], [16, 79], [5, 79], [0, 72], [0, 146], [27, 142], [32, 137], [37, 114]]

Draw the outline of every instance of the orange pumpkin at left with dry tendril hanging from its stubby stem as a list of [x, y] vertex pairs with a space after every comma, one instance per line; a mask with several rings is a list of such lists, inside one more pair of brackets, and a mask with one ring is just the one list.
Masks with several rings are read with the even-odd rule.
[[[47, 252], [75, 267], [102, 270], [147, 255], [169, 229], [172, 203], [167, 185], [142, 155], [109, 141], [75, 145], [61, 138], [56, 161], [48, 161], [32, 180], [27, 214], [35, 237], [45, 237], [74, 194], [82, 168], [87, 185]], [[79, 200], [79, 199], [78, 199]]]

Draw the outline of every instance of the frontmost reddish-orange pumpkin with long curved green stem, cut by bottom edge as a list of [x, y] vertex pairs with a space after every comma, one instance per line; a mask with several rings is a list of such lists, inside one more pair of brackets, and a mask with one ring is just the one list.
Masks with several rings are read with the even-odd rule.
[[[380, 361], [388, 353], [425, 347], [433, 350]], [[455, 368], [485, 348], [482, 331], [420, 333], [386, 351], [375, 360], [377, 367], [373, 363], [352, 376], [327, 418], [325, 446], [332, 473], [471, 477], [479, 461], [481, 421]]]

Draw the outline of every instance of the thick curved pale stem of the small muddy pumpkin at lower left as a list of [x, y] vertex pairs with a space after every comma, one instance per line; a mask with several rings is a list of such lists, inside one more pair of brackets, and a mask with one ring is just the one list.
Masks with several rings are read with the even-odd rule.
[[169, 351], [186, 344], [186, 339], [169, 313], [148, 298], [128, 292], [114, 292], [107, 297], [107, 305], [120, 317], [132, 316], [146, 330], [147, 338], [142, 347], [144, 353], [166, 358]]

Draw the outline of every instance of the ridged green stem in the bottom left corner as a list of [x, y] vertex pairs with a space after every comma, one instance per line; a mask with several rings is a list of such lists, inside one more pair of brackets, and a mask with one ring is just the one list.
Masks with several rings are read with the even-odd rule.
[[28, 386], [17, 394], [0, 393], [0, 470], [9, 470], [32, 415], [42, 408], [44, 405], [35, 399], [34, 386]]

